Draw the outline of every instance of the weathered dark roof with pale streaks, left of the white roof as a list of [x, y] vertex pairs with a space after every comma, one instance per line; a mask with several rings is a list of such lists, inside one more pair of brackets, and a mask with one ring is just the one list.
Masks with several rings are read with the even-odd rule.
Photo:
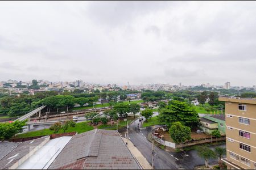
[[20, 159], [32, 150], [39, 148], [46, 139], [49, 139], [49, 136], [20, 143], [11, 152], [9, 152], [9, 154], [0, 160], [0, 169], [13, 169], [12, 166], [15, 163], [20, 162]]

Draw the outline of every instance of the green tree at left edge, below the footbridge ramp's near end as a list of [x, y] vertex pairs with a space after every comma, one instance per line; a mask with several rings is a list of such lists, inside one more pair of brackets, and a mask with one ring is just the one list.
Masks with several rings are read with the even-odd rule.
[[22, 132], [24, 129], [23, 126], [26, 125], [25, 121], [14, 121], [6, 122], [0, 124], [0, 140], [8, 140], [13, 137], [15, 134]]

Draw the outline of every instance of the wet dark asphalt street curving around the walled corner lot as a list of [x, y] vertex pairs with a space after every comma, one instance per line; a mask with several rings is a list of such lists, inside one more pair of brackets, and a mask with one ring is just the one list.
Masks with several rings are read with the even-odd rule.
[[[147, 140], [148, 133], [151, 133], [152, 127], [143, 128], [139, 120], [135, 121], [129, 127], [129, 139], [141, 151], [142, 155], [151, 164], [152, 162], [152, 143]], [[157, 126], [155, 126], [156, 128]], [[126, 137], [126, 129], [119, 130], [119, 133]], [[210, 146], [214, 149], [217, 146]], [[218, 145], [218, 147], [226, 147], [225, 144]], [[217, 159], [210, 159], [209, 163], [217, 162]], [[182, 152], [168, 152], [159, 147], [155, 147], [154, 167], [155, 169], [193, 169], [195, 166], [203, 165], [204, 159], [197, 155], [195, 150]]]

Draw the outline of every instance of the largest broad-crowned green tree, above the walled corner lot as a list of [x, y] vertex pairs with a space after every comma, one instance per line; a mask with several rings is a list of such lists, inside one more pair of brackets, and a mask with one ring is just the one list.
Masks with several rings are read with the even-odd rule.
[[172, 100], [172, 104], [160, 110], [159, 121], [171, 126], [172, 122], [183, 122], [186, 126], [196, 126], [199, 116], [191, 104]]

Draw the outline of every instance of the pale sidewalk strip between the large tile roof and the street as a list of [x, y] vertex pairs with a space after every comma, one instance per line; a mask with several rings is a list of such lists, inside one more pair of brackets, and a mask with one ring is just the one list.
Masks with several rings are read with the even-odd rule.
[[[124, 142], [127, 142], [126, 138], [123, 138]], [[141, 164], [143, 169], [152, 169], [151, 165], [147, 162], [146, 158], [141, 154], [141, 152], [131, 143], [131, 141], [128, 142], [127, 147], [129, 148], [131, 154], [134, 155], [134, 157], [138, 160], [139, 164]]]

